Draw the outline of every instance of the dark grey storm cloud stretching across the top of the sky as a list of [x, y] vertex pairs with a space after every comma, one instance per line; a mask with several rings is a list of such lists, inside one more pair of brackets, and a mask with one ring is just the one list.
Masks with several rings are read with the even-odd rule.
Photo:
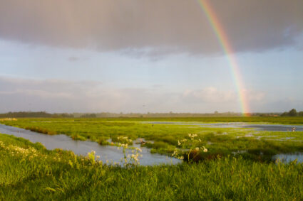
[[[212, 0], [236, 51], [295, 46], [302, 0]], [[197, 1], [1, 0], [0, 38], [71, 48], [151, 54], [221, 51]]]

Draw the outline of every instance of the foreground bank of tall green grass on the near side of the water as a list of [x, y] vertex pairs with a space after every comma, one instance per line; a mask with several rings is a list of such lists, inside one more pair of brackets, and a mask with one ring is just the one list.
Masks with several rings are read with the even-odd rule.
[[302, 200], [303, 165], [222, 158], [120, 168], [0, 134], [0, 200]]

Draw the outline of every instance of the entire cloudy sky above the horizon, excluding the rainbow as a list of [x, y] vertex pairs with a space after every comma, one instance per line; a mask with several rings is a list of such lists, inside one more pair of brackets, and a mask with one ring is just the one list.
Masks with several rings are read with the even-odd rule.
[[194, 0], [0, 0], [0, 112], [303, 110], [303, 1], [205, 2], [228, 54]]

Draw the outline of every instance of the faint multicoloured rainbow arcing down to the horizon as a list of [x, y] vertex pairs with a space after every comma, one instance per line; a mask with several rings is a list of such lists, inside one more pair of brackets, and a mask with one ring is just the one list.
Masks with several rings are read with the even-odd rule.
[[237, 89], [237, 94], [241, 104], [242, 114], [248, 116], [250, 109], [245, 97], [244, 85], [242, 84], [243, 82], [240, 76], [239, 66], [237, 65], [234, 51], [232, 50], [232, 46], [230, 45], [224, 28], [207, 0], [197, 0], [197, 2], [200, 4], [202, 10], [204, 11], [207, 20], [212, 27], [212, 31], [214, 31], [215, 36], [217, 37], [217, 40], [219, 40], [219, 43], [222, 47], [222, 50], [227, 56], [227, 61], [230, 65], [230, 70], [232, 71], [232, 78], [235, 82], [235, 87]]

